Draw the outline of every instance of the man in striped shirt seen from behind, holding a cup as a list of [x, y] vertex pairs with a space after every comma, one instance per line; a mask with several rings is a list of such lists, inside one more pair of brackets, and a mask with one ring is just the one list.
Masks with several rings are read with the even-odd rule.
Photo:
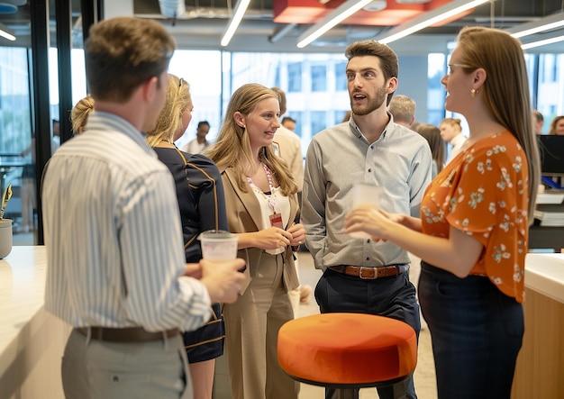
[[231, 303], [243, 259], [186, 264], [174, 181], [143, 140], [165, 102], [175, 42], [160, 23], [115, 17], [90, 28], [96, 111], [44, 169], [45, 309], [73, 327], [67, 398], [192, 398], [179, 331]]

